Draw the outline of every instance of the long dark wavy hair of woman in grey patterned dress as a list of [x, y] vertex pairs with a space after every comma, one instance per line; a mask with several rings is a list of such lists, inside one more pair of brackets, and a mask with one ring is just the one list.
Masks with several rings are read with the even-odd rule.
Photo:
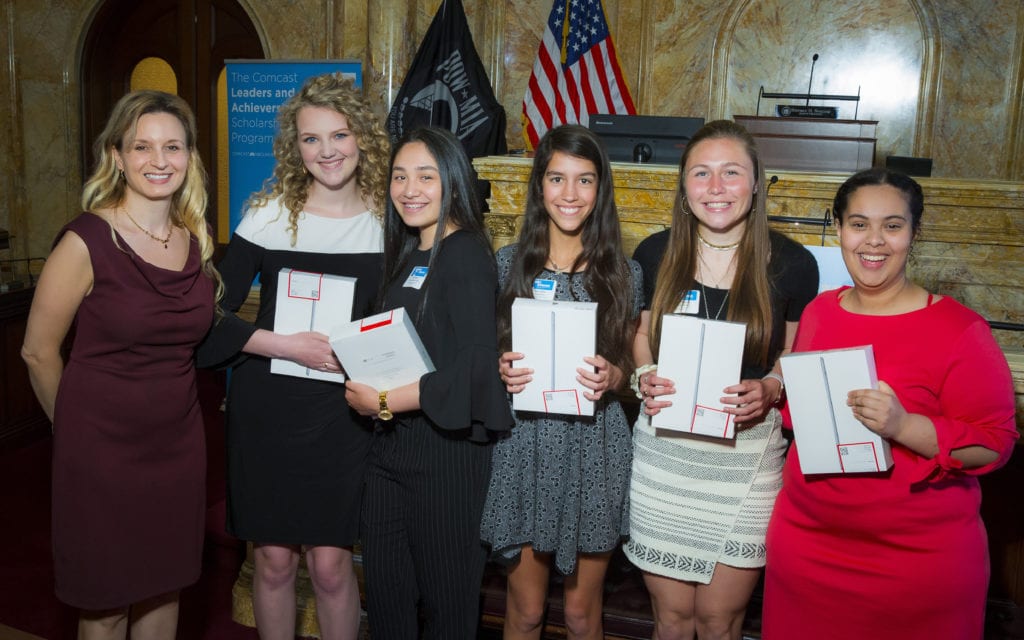
[[[555, 152], [589, 160], [597, 170], [594, 210], [584, 222], [583, 253], [569, 272], [586, 264], [584, 289], [600, 308], [598, 352], [623, 371], [632, 371], [634, 318], [629, 264], [623, 254], [608, 155], [601, 140], [586, 127], [563, 125], [549, 130], [537, 145], [526, 191], [526, 210], [519, 229], [518, 250], [509, 279], [498, 297], [498, 344], [512, 345], [512, 302], [532, 296], [534, 279], [544, 269], [550, 248], [548, 211], [544, 207], [544, 175]], [[570, 288], [571, 292], [571, 288]]]

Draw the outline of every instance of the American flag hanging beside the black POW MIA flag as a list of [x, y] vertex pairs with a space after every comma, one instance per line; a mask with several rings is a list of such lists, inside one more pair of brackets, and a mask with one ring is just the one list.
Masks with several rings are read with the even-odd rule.
[[555, 0], [522, 99], [530, 148], [548, 129], [590, 114], [635, 114], [601, 0]]

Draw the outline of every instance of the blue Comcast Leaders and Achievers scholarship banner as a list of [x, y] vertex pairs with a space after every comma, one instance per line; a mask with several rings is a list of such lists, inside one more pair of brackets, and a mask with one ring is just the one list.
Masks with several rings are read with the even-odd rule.
[[273, 174], [278, 110], [308, 78], [341, 72], [362, 86], [358, 60], [227, 60], [228, 224], [231, 231], [245, 204]]

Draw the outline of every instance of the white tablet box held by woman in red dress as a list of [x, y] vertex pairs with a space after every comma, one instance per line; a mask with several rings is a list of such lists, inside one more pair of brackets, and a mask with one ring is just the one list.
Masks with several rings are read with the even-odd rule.
[[846, 403], [850, 391], [879, 386], [870, 345], [780, 359], [805, 475], [870, 473], [893, 466], [889, 440], [862, 425]]

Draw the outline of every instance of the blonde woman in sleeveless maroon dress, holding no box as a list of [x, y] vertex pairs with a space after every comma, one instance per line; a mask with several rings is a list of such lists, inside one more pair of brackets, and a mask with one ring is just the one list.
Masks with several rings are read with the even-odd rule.
[[23, 347], [53, 421], [56, 594], [82, 609], [80, 639], [130, 628], [134, 640], [173, 640], [178, 591], [202, 560], [193, 361], [219, 283], [196, 119], [175, 95], [130, 93], [95, 153], [84, 213], [57, 236]]

